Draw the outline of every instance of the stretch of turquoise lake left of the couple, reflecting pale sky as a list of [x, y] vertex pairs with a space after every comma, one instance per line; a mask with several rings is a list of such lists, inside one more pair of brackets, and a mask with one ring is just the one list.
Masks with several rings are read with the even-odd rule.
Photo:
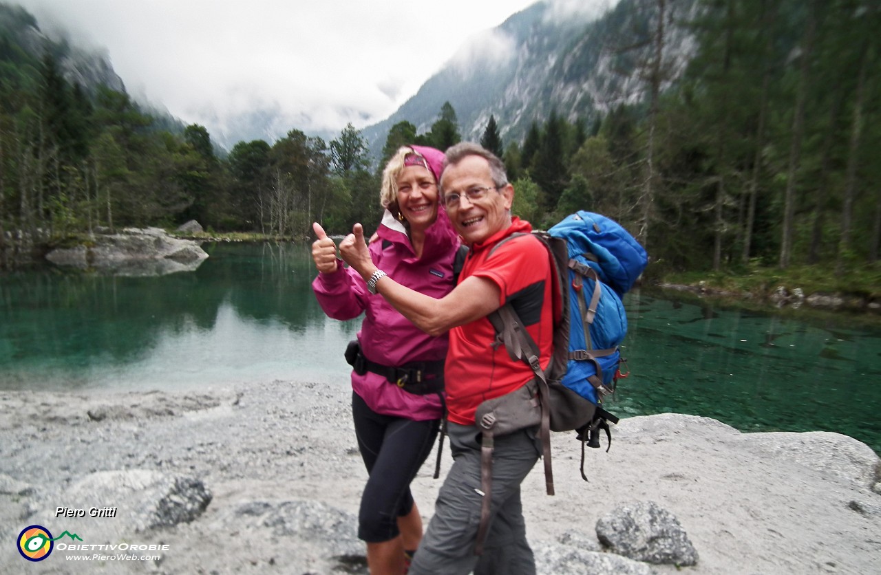
[[198, 387], [343, 380], [360, 321], [330, 321], [302, 246], [207, 246], [160, 277], [47, 267], [0, 280], [0, 388]]

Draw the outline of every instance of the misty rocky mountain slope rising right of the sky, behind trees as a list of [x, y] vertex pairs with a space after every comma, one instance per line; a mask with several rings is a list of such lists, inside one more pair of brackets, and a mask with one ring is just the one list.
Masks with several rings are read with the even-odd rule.
[[[665, 86], [692, 56], [694, 42], [682, 24], [695, 6], [683, 0], [667, 7]], [[655, 18], [657, 3], [651, 0], [621, 0], [599, 17], [533, 4], [462, 48], [394, 114], [362, 133], [378, 157], [391, 126], [406, 120], [425, 132], [448, 101], [463, 139], [478, 140], [492, 114], [508, 143], [522, 141], [531, 122], [544, 122], [552, 109], [574, 122], [640, 101], [640, 63], [649, 58]]]

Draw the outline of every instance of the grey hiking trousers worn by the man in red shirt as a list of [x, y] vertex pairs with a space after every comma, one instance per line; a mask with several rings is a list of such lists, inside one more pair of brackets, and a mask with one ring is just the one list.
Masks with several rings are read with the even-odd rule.
[[484, 553], [474, 555], [480, 524], [480, 431], [448, 424], [453, 466], [434, 504], [434, 515], [410, 566], [410, 575], [535, 575], [526, 541], [520, 484], [541, 453], [537, 427], [495, 439], [492, 518]]

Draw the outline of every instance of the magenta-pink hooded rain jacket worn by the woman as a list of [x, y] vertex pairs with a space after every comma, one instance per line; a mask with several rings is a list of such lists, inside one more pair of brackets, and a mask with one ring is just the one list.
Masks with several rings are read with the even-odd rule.
[[[440, 176], [442, 153], [412, 147], [428, 159], [432, 171]], [[426, 151], [434, 154], [430, 156]], [[398, 284], [438, 299], [453, 290], [453, 262], [459, 239], [445, 210], [438, 210], [437, 220], [426, 230], [419, 258], [413, 252], [406, 229], [389, 210], [382, 217], [377, 235], [379, 238], [368, 247], [371, 258], [377, 268]], [[365, 313], [358, 340], [367, 359], [382, 365], [403, 365], [446, 358], [446, 334], [433, 337], [418, 329], [381, 295], [371, 295], [361, 276], [344, 268], [343, 262], [338, 262], [335, 273], [318, 274], [312, 289], [324, 313], [335, 320], [352, 320]], [[415, 421], [441, 417], [441, 400], [436, 394], [411, 394], [374, 372], [359, 375], [352, 371], [352, 389], [370, 409], [382, 415]]]

